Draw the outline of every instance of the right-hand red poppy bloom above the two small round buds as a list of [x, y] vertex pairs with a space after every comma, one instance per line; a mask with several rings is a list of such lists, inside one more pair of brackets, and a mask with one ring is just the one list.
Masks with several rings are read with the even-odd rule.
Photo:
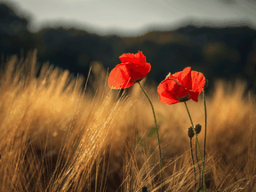
[[158, 85], [157, 92], [161, 102], [174, 104], [189, 99], [198, 101], [198, 95], [204, 90], [205, 77], [202, 73], [184, 68], [183, 71], [168, 76]]

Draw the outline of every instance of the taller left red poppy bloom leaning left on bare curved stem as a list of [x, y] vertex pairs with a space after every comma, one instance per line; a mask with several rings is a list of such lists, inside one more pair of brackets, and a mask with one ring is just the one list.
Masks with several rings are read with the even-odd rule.
[[140, 82], [151, 69], [142, 52], [136, 54], [124, 53], [119, 57], [118, 64], [108, 76], [108, 86], [111, 89], [124, 89]]

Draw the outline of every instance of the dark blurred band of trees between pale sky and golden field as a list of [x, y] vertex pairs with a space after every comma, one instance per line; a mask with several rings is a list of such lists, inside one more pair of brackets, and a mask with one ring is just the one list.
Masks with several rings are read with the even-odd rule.
[[[25, 58], [37, 49], [37, 60], [88, 76], [98, 61], [112, 70], [125, 52], [142, 51], [152, 68], [148, 84], [186, 68], [204, 73], [210, 84], [217, 79], [244, 79], [256, 90], [256, 31], [249, 27], [196, 28], [188, 24], [172, 31], [152, 31], [143, 36], [98, 36], [76, 28], [42, 28], [28, 31], [27, 18], [21, 18], [7, 4], [0, 4], [1, 68], [12, 54]], [[90, 77], [91, 78], [91, 77]], [[93, 76], [92, 76], [93, 79]], [[211, 90], [211, 86], [209, 87]]]

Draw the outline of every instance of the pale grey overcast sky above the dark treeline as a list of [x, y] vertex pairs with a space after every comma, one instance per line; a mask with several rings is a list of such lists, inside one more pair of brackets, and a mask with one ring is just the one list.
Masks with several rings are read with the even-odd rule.
[[150, 28], [248, 20], [256, 26], [253, 0], [0, 0], [31, 19], [29, 29], [66, 26], [99, 35], [139, 36]]

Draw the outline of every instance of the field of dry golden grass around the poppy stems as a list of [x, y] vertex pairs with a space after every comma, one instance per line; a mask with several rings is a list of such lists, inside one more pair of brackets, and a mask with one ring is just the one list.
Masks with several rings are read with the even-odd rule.
[[[100, 63], [91, 73], [94, 81], [84, 90], [85, 78], [49, 65], [36, 78], [36, 52], [6, 62], [0, 74], [0, 191], [139, 192], [143, 186], [158, 191], [158, 145], [156, 133], [148, 136], [154, 118], [147, 98], [139, 84], [117, 97]], [[165, 105], [156, 85], [141, 84], [156, 110], [164, 191], [193, 191], [185, 105]], [[207, 188], [256, 191], [255, 96], [244, 94], [240, 81], [211, 86], [214, 92], [206, 94]], [[202, 124], [203, 148], [202, 94], [197, 103], [189, 100], [188, 108], [194, 124]]]

